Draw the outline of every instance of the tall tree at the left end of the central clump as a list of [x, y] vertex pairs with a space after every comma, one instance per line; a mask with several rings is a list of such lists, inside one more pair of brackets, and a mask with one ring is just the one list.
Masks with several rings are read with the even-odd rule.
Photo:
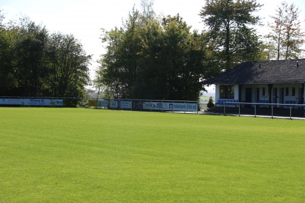
[[105, 32], [102, 41], [108, 43], [101, 60], [104, 82], [115, 90], [115, 97], [132, 98], [139, 69], [142, 18], [133, 9], [122, 27]]

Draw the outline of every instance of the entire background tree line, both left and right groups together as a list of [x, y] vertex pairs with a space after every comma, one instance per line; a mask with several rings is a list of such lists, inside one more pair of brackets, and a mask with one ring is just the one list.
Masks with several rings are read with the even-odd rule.
[[[255, 29], [256, 0], [206, 0], [203, 30], [183, 18], [160, 16], [142, 0], [122, 25], [103, 30], [106, 53], [93, 81], [108, 98], [197, 100], [204, 82], [244, 61], [300, 58], [299, 10], [283, 2], [270, 16], [270, 33]], [[3, 23], [0, 11], [0, 95], [83, 97], [90, 84], [86, 55], [73, 35], [50, 33], [27, 17]]]

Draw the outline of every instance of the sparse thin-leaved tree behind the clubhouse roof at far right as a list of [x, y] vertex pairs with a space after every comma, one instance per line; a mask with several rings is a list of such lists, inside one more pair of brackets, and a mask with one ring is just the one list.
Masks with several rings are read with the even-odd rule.
[[293, 3], [282, 2], [276, 9], [276, 15], [270, 16], [272, 21], [268, 22], [268, 26], [271, 32], [266, 37], [276, 44], [278, 60], [301, 57], [304, 51], [300, 48], [304, 44], [305, 33], [301, 28], [304, 21], [298, 19], [299, 13]]

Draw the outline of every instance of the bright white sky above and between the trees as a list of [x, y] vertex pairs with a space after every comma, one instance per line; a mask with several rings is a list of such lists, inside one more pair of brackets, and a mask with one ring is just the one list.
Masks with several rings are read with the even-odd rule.
[[[270, 21], [269, 15], [275, 15], [279, 0], [257, 0], [264, 6], [257, 13], [266, 24]], [[299, 20], [305, 20], [305, 1], [286, 0], [288, 5], [294, 3], [299, 10]], [[203, 23], [198, 15], [204, 6], [204, 0], [155, 0], [154, 10], [157, 15], [171, 15], [177, 13], [191, 25], [193, 29], [203, 30]], [[17, 20], [18, 16], [26, 15], [38, 24], [45, 25], [52, 32], [73, 34], [84, 47], [87, 54], [93, 54], [90, 68], [91, 78], [97, 69], [100, 55], [106, 51], [101, 43], [102, 30], [110, 30], [122, 25], [132, 8], [140, 9], [140, 0], [1, 0], [0, 10], [7, 20]], [[303, 23], [304, 24], [304, 23]], [[305, 27], [305, 26], [304, 26]], [[258, 29], [266, 33], [266, 26]], [[213, 87], [208, 88], [210, 91]]]

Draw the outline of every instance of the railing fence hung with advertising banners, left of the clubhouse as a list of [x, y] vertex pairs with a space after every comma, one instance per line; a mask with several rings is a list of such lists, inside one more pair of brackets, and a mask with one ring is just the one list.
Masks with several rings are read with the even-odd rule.
[[197, 112], [198, 101], [113, 99], [81, 97], [11, 97], [0, 96], [0, 106], [73, 107], [131, 111]]

